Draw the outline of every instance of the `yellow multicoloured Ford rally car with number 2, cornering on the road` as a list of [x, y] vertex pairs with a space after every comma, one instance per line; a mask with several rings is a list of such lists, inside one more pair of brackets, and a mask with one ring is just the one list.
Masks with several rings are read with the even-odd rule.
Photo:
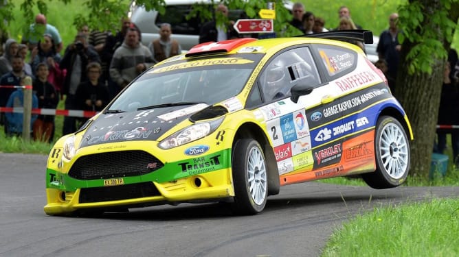
[[221, 202], [261, 212], [282, 186], [360, 176], [402, 184], [412, 130], [355, 45], [371, 32], [207, 42], [137, 77], [60, 138], [48, 215]]

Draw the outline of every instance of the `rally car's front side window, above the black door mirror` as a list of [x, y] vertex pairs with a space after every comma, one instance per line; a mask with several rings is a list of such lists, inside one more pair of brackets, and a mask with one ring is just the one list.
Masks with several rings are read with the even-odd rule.
[[296, 84], [320, 84], [320, 76], [308, 47], [280, 53], [266, 67], [260, 75], [265, 101], [289, 96], [290, 88]]

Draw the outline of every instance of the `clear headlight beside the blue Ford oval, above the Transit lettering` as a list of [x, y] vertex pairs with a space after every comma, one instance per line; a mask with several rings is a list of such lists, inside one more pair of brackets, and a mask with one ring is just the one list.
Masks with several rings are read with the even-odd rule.
[[178, 147], [179, 145], [185, 145], [186, 143], [190, 143], [194, 140], [198, 140], [199, 138], [203, 138], [208, 134], [211, 134], [216, 130], [217, 127], [222, 123], [223, 118], [217, 119], [215, 121], [203, 122], [203, 123], [196, 123], [194, 125], [190, 125], [190, 127], [186, 127], [179, 132], [176, 132], [167, 138], [164, 138], [159, 143], [159, 148], [161, 149], [170, 149], [174, 147]]

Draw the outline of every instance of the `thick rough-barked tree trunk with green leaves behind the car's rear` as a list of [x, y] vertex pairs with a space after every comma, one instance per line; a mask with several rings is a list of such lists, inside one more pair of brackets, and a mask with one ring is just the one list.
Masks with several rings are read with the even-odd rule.
[[414, 176], [429, 174], [443, 70], [458, 17], [458, 0], [410, 0], [399, 8], [403, 65], [399, 65], [394, 95], [414, 133], [410, 145]]

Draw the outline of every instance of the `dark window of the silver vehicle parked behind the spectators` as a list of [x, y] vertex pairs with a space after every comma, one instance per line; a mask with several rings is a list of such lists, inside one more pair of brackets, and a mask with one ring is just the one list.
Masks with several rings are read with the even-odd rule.
[[201, 22], [199, 16], [186, 19], [190, 13], [192, 5], [168, 5], [166, 12], [159, 14], [156, 19], [156, 25], [159, 27], [162, 23], [169, 23], [172, 34], [199, 35]]

